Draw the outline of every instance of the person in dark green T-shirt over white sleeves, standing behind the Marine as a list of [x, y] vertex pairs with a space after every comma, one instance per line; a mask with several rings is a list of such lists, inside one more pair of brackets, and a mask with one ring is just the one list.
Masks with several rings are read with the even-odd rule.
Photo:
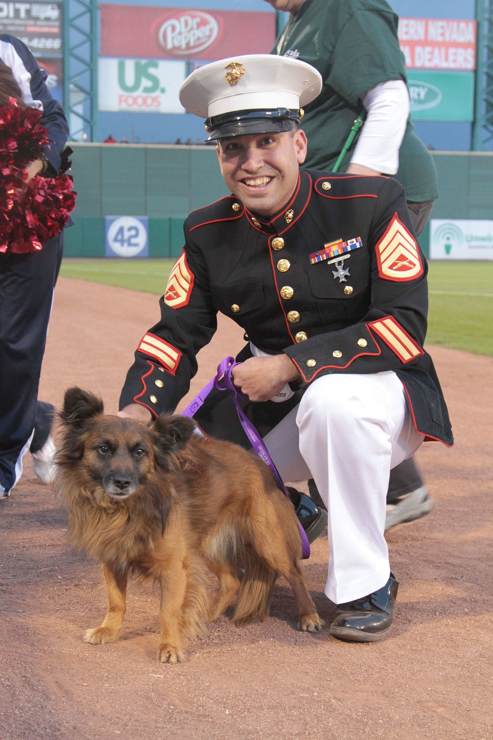
[[[333, 169], [355, 119], [363, 116], [339, 171], [395, 177], [419, 235], [438, 198], [438, 184], [432, 155], [409, 118], [398, 16], [385, 0], [266, 1], [290, 13], [271, 53], [307, 61], [322, 75], [322, 92], [302, 119], [305, 166]], [[317, 498], [312, 481], [309, 486]], [[432, 499], [412, 458], [392, 469], [387, 505], [386, 530], [431, 511]]]

